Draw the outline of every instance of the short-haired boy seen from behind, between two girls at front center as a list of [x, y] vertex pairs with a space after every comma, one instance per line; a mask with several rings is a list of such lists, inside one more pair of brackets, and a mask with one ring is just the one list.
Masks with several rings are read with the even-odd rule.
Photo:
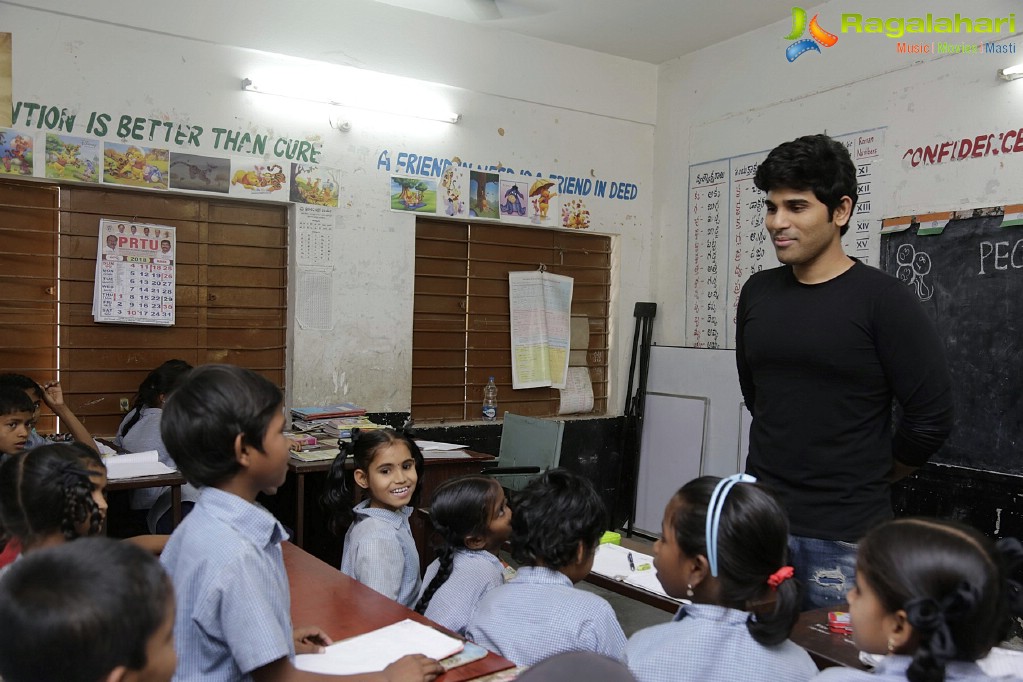
[[566, 651], [593, 651], [621, 661], [625, 633], [607, 600], [573, 587], [593, 567], [607, 528], [592, 484], [550, 469], [514, 498], [511, 556], [522, 567], [487, 592], [465, 635], [520, 665]]

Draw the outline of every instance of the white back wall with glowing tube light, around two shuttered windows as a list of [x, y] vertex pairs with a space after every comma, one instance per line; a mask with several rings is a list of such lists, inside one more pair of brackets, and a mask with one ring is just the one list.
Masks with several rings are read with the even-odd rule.
[[[414, 218], [388, 210], [389, 174], [377, 170], [384, 150], [636, 183], [634, 200], [589, 196], [586, 203], [592, 231], [620, 235], [617, 256], [625, 266], [615, 313], [630, 315], [634, 302], [652, 295], [655, 66], [364, 0], [120, 0], [71, 11], [76, 15], [61, 0], [38, 0], [32, 8], [0, 2], [2, 30], [13, 34], [15, 105], [66, 107], [79, 113], [79, 125], [90, 111], [106, 111], [305, 139], [321, 143], [320, 164], [340, 169], [335, 328], [293, 325], [293, 404], [410, 406]], [[240, 79], [259, 70], [305, 67], [282, 54], [442, 84], [436, 90], [462, 122], [422, 125], [349, 111], [353, 129], [342, 134], [328, 123], [338, 109], [240, 91]], [[212, 141], [169, 146], [230, 155]], [[294, 283], [294, 265], [292, 274]], [[631, 319], [623, 317], [611, 357], [613, 412], [621, 411], [631, 334]]]

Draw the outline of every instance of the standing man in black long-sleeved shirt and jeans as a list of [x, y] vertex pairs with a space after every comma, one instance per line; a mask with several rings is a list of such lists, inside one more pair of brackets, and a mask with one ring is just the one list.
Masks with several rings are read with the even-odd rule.
[[913, 290], [842, 248], [856, 204], [845, 146], [826, 135], [782, 144], [755, 183], [783, 265], [753, 275], [739, 299], [747, 470], [779, 494], [805, 605], [821, 606], [845, 600], [855, 543], [892, 515], [891, 483], [948, 437], [951, 381]]

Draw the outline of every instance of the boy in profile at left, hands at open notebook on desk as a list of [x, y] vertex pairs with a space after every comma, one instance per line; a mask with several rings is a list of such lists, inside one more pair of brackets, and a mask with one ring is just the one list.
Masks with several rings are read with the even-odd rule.
[[283, 399], [266, 378], [231, 365], [189, 374], [164, 406], [161, 435], [189, 483], [205, 487], [161, 555], [178, 612], [175, 680], [432, 680], [442, 670], [405, 656], [383, 673], [324, 677], [295, 668], [296, 651], [322, 650], [318, 628], [293, 629], [280, 544], [283, 527], [256, 504], [284, 483], [291, 443]]

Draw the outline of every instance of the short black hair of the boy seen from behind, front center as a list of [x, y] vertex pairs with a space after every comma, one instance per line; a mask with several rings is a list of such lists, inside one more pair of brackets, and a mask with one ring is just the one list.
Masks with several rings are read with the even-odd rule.
[[555, 571], [575, 561], [580, 542], [595, 547], [608, 525], [593, 484], [564, 468], [533, 479], [513, 498], [511, 508], [511, 556]]

